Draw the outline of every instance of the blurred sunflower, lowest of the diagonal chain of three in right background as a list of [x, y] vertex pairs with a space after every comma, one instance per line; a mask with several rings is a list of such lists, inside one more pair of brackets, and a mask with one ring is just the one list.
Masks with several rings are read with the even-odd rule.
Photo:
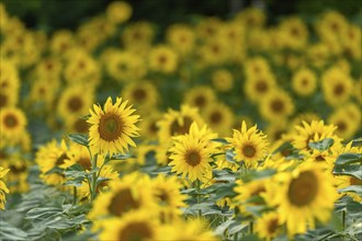
[[284, 90], [274, 90], [261, 100], [259, 110], [268, 120], [284, 119], [294, 112], [293, 100]]

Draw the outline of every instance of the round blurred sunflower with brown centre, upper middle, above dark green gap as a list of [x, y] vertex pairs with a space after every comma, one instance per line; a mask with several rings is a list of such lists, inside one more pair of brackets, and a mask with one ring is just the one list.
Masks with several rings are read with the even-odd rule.
[[149, 68], [162, 73], [172, 73], [178, 68], [178, 54], [170, 47], [160, 45], [149, 51]]

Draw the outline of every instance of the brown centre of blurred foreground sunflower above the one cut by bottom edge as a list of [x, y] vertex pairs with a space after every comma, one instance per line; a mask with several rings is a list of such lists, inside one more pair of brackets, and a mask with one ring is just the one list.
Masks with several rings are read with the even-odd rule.
[[113, 215], [121, 216], [131, 209], [137, 209], [140, 206], [129, 188], [118, 191], [109, 205], [109, 211]]

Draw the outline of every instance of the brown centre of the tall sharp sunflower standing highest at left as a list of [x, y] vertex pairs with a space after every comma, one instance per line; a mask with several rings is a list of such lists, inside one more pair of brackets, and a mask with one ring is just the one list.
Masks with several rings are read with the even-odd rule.
[[123, 123], [115, 114], [109, 113], [101, 117], [99, 133], [103, 140], [112, 141], [121, 137]]

